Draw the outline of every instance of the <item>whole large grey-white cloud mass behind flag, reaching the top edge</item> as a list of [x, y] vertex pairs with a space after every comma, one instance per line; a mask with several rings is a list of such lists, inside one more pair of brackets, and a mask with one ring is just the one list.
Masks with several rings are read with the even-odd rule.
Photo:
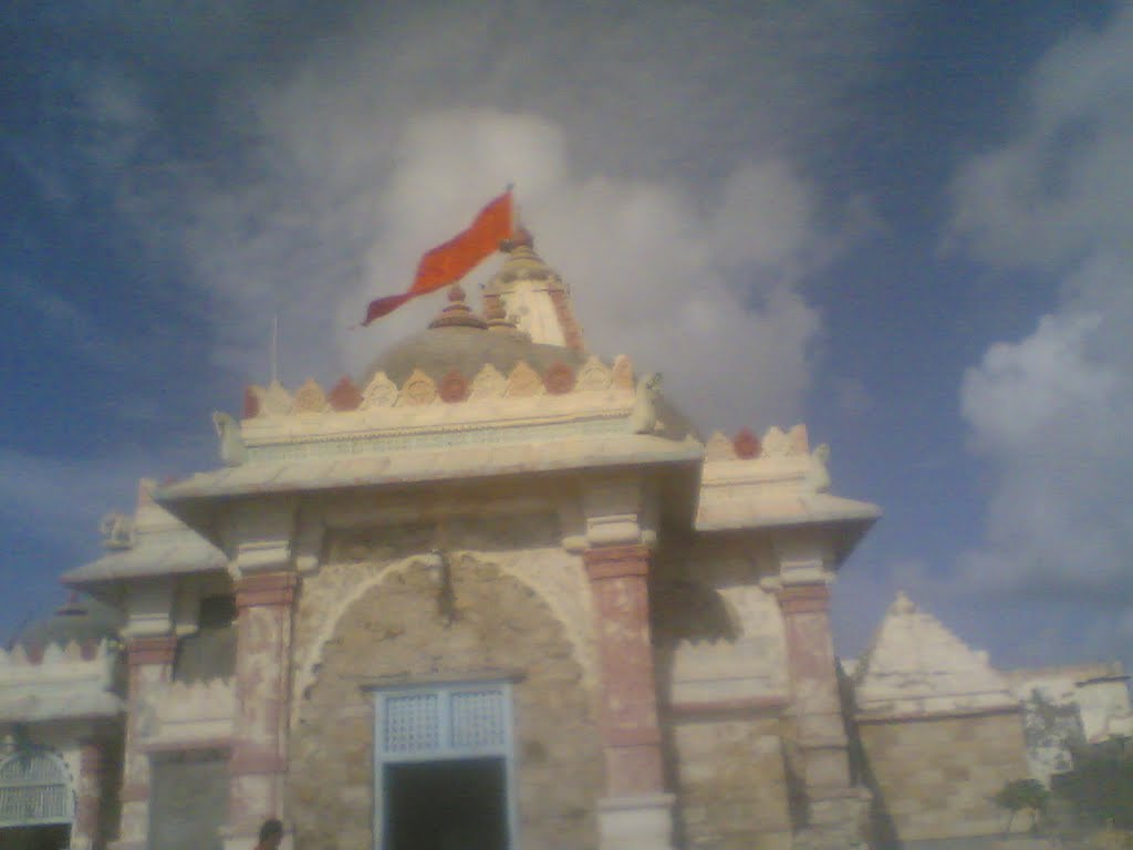
[[[228, 168], [165, 139], [120, 210], [185, 263], [219, 364], [265, 380], [279, 315], [298, 383], [357, 374], [424, 326], [435, 303], [348, 330], [513, 181], [594, 350], [664, 372], [710, 425], [790, 423], [821, 332], [802, 283], [868, 226], [798, 153], [846, 119], [837, 95], [868, 77], [881, 20], [824, 3], [358, 12], [286, 75], [221, 91]], [[843, 73], [816, 77], [819, 56]], [[111, 100], [108, 121], [125, 114]]]

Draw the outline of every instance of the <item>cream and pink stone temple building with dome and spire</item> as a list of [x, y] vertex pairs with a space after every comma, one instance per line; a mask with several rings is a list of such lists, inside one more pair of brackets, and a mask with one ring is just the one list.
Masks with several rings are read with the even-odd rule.
[[[850, 732], [897, 753], [956, 707], [893, 648], [931, 624], [887, 622], [847, 723], [829, 598], [878, 508], [804, 426], [702, 439], [590, 352], [526, 235], [483, 301], [355, 380], [249, 388], [219, 468], [108, 518], [63, 576], [102, 619], [0, 656], [6, 850], [250, 850], [269, 817], [312, 850], [866, 845], [909, 789]], [[1025, 773], [1007, 685], [948, 663], [926, 687], [1019, 733], [981, 781]]]

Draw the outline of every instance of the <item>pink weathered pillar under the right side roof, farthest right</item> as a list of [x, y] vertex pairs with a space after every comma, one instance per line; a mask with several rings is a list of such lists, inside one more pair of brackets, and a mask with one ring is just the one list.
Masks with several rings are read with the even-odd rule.
[[829, 588], [821, 581], [787, 585], [778, 596], [803, 781], [811, 818], [817, 822], [823, 819], [825, 801], [857, 796], [850, 785], [829, 600]]

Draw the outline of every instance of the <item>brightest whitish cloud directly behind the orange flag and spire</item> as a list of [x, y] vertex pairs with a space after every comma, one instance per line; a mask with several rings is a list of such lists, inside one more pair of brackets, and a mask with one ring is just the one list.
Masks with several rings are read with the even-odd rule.
[[[768, 161], [741, 167], [724, 197], [706, 205], [672, 185], [572, 173], [565, 147], [557, 127], [531, 116], [460, 111], [414, 121], [397, 148], [402, 167], [380, 195], [390, 226], [342, 301], [340, 326], [375, 294], [403, 286], [391, 284], [389, 270], [400, 270], [392, 281], [408, 280], [421, 249], [514, 178], [537, 249], [574, 288], [591, 349], [663, 371], [693, 413], [733, 423], [753, 410], [796, 416], [819, 321], [795, 269], [825, 238], [809, 187]], [[778, 238], [763, 239], [765, 230]], [[343, 333], [351, 371], [437, 308], [434, 299], [395, 329]]]

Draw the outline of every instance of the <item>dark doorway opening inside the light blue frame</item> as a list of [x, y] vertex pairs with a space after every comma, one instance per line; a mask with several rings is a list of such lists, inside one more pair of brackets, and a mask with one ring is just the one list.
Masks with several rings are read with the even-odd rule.
[[504, 759], [385, 766], [384, 850], [508, 850]]

